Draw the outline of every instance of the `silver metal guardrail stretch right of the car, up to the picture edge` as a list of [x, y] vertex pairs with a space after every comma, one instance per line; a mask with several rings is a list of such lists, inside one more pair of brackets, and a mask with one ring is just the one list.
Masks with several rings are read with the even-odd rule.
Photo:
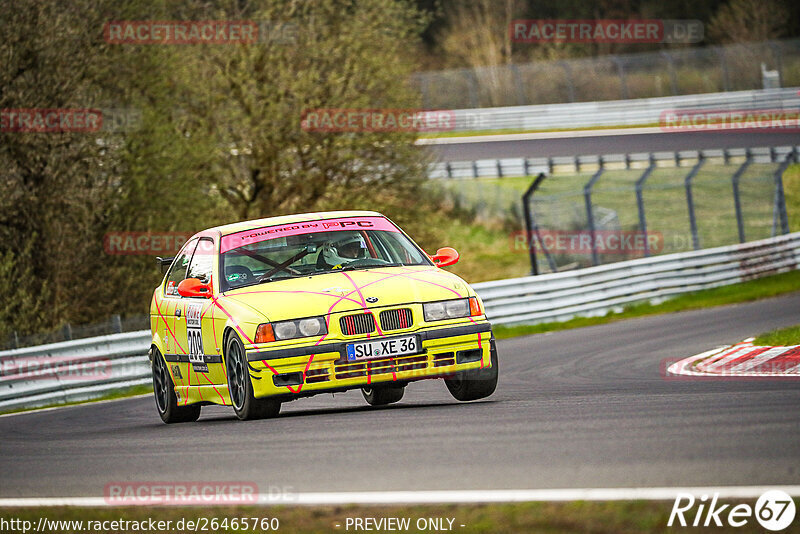
[[576, 271], [473, 284], [492, 324], [566, 321], [604, 315], [636, 302], [666, 298], [800, 265], [800, 232], [680, 254], [622, 261]]

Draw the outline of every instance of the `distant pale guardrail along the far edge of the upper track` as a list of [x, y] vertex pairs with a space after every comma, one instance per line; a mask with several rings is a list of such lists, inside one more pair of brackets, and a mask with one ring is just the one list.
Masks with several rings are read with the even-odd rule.
[[668, 110], [755, 111], [800, 109], [797, 87], [726, 93], [453, 110], [454, 131], [551, 130], [659, 123]]

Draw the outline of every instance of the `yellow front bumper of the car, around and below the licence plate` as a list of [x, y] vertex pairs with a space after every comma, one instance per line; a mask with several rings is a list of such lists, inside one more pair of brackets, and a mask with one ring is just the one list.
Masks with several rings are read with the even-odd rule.
[[270, 351], [249, 350], [253, 392], [259, 398], [297, 397], [380, 383], [405, 384], [488, 368], [494, 344], [491, 328], [483, 321], [404, 333], [419, 336], [419, 353], [370, 360], [348, 361], [346, 356], [348, 343], [366, 338]]

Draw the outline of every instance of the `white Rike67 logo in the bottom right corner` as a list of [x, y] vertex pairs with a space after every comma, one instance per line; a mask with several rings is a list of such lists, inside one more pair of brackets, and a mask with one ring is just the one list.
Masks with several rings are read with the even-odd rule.
[[708, 495], [701, 495], [700, 499], [695, 499], [690, 493], [679, 493], [672, 505], [667, 526], [743, 527], [755, 518], [761, 527], [779, 531], [794, 521], [794, 501], [781, 490], [765, 492], [758, 498], [755, 506], [719, 504], [718, 500], [718, 493], [713, 495], [710, 502]]

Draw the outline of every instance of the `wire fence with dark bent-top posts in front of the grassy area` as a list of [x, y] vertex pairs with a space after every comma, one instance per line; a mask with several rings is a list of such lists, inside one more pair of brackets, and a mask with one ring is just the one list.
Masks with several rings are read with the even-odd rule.
[[532, 271], [786, 234], [782, 176], [797, 160], [792, 148], [654, 153], [601, 157], [593, 172], [542, 178], [523, 200]]

